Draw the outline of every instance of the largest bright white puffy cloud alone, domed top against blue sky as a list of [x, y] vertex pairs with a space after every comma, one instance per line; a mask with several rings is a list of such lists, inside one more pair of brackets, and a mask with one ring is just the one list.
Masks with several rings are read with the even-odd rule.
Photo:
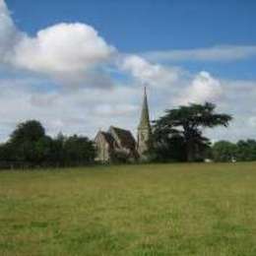
[[49, 75], [78, 74], [107, 61], [113, 47], [85, 24], [58, 24], [26, 36], [15, 47], [14, 62]]

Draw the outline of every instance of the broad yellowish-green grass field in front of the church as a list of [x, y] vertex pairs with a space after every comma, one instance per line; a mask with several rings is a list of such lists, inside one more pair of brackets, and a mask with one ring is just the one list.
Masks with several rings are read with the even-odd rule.
[[256, 255], [256, 162], [0, 172], [0, 255]]

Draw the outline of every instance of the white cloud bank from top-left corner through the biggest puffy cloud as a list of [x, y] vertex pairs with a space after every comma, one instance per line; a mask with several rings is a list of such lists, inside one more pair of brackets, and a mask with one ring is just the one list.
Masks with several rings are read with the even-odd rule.
[[[62, 84], [102, 86], [110, 79], [100, 67], [115, 49], [86, 24], [57, 24], [34, 37], [14, 25], [3, 0], [0, 0], [0, 56], [2, 63], [49, 76]], [[97, 72], [97, 70], [100, 72]]]

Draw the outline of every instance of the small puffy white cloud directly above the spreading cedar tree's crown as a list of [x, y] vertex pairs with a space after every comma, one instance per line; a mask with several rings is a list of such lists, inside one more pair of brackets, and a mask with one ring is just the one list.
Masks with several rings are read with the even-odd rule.
[[202, 71], [192, 81], [191, 85], [181, 92], [176, 99], [178, 104], [216, 102], [224, 96], [224, 90], [219, 80], [208, 72]]

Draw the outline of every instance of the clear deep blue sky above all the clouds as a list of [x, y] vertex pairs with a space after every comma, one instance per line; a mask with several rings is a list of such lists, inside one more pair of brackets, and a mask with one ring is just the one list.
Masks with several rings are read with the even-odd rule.
[[61, 22], [86, 23], [125, 52], [256, 43], [253, 0], [9, 0], [7, 3], [23, 31], [33, 34]]

